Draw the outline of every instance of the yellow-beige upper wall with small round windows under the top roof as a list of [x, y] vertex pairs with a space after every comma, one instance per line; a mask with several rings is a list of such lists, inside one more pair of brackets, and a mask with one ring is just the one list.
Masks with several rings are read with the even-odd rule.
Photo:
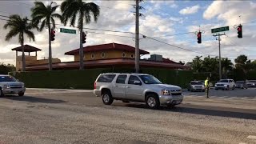
[[[102, 58], [102, 53], [105, 53], [105, 57]], [[125, 54], [125, 57], [122, 56], [122, 54]], [[94, 54], [94, 58], [92, 58], [92, 54]], [[123, 52], [118, 50], [108, 50], [104, 52], [89, 52], [84, 54], [84, 60], [98, 60], [98, 59], [110, 59], [110, 58], [132, 58], [131, 55], [133, 55], [133, 58], [135, 57], [135, 54], [133, 52]], [[79, 54], [74, 55], [74, 61], [79, 61]]]

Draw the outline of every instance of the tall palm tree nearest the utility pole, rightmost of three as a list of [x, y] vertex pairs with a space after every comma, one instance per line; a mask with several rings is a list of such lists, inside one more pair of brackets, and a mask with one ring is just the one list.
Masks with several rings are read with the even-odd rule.
[[78, 29], [80, 31], [80, 70], [83, 70], [83, 47], [82, 47], [82, 29], [83, 23], [90, 23], [91, 14], [94, 16], [94, 22], [97, 22], [100, 8], [94, 2], [82, 2], [82, 0], [65, 0], [61, 5], [64, 25], [70, 20], [70, 26], [75, 25], [78, 16]]

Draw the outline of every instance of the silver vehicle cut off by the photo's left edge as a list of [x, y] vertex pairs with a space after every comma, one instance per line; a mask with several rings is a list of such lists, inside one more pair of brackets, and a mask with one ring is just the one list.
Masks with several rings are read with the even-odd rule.
[[18, 94], [23, 96], [26, 88], [23, 82], [18, 82], [17, 79], [10, 75], [0, 75], [0, 95]]

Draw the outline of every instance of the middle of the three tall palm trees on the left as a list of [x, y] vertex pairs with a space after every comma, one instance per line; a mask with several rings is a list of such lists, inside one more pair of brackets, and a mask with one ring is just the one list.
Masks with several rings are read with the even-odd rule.
[[51, 40], [50, 40], [50, 29], [55, 28], [55, 20], [54, 18], [59, 18], [62, 20], [62, 16], [60, 14], [55, 13], [58, 6], [51, 5], [53, 2], [50, 3], [50, 5], [45, 6], [43, 2], [34, 2], [34, 7], [31, 9], [31, 17], [33, 22], [36, 22], [39, 24], [41, 23], [41, 26], [39, 28], [39, 31], [42, 31], [45, 27], [48, 29], [49, 34], [49, 70], [52, 70], [52, 54], [51, 54]]

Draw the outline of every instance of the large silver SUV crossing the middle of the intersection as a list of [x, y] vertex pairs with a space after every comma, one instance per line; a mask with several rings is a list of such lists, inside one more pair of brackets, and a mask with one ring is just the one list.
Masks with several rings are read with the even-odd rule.
[[182, 102], [179, 86], [162, 84], [150, 74], [99, 74], [94, 82], [94, 94], [110, 105], [114, 99], [122, 102], [146, 102], [152, 109], [160, 105], [175, 106]]

